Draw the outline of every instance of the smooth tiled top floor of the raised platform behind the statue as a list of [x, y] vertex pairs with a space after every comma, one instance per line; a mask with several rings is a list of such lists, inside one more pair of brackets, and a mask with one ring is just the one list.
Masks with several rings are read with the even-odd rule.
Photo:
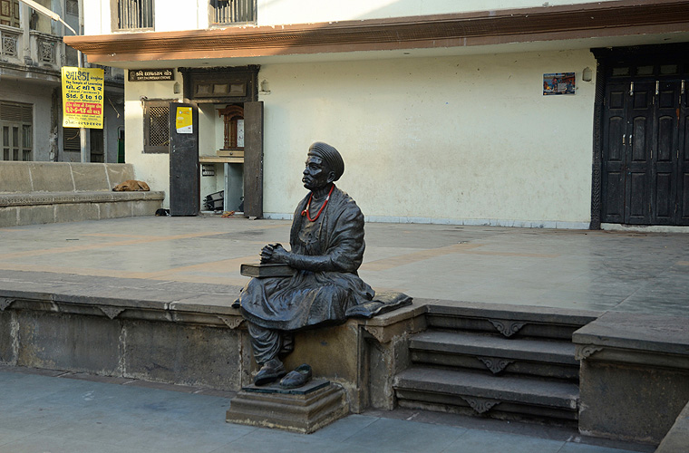
[[[133, 217], [0, 228], [0, 290], [229, 304], [290, 222]], [[359, 274], [414, 298], [686, 316], [689, 234], [369, 223]], [[170, 289], [172, 288], [172, 289]], [[211, 302], [215, 301], [215, 302]]]

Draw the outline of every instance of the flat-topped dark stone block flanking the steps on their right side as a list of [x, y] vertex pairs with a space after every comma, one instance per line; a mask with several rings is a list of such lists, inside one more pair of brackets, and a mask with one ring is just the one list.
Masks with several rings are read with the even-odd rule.
[[608, 312], [574, 333], [579, 430], [659, 443], [689, 401], [689, 319]]

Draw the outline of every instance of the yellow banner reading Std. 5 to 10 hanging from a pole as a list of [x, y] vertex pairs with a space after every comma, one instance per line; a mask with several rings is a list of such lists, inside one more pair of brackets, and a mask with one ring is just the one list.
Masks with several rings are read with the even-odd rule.
[[103, 72], [63, 66], [63, 127], [102, 129]]

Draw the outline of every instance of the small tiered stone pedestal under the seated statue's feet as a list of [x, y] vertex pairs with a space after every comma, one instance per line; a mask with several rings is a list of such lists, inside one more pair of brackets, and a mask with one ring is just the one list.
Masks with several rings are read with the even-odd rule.
[[245, 387], [231, 400], [227, 421], [309, 434], [347, 413], [345, 390], [330, 381], [314, 380], [292, 390], [280, 389], [277, 383]]

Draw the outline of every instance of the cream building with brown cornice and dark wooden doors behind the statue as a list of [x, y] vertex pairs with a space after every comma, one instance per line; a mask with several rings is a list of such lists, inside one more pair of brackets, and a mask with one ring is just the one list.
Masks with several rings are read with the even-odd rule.
[[179, 178], [168, 111], [184, 101], [209, 165], [200, 197], [244, 195], [247, 215], [291, 216], [323, 140], [369, 220], [689, 225], [689, 1], [93, 0], [84, 14], [65, 41], [128, 70], [126, 159], [151, 188]]

